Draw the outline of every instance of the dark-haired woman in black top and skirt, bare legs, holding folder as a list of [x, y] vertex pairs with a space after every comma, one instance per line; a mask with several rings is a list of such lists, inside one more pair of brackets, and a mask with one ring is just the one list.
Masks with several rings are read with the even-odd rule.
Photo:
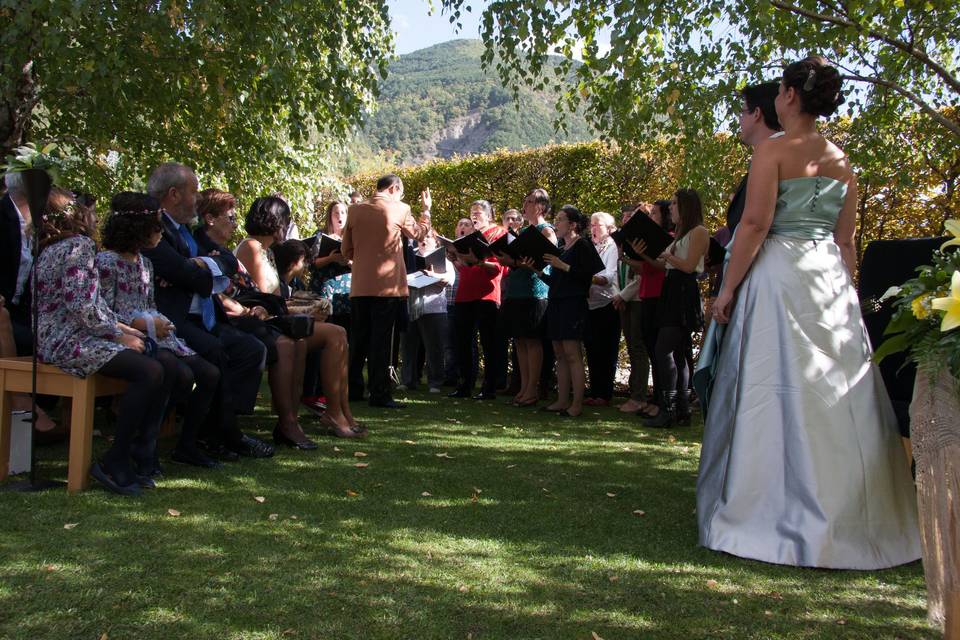
[[[593, 275], [603, 270], [603, 261], [589, 239], [581, 234], [590, 219], [571, 205], [564, 205], [554, 219], [563, 253], [546, 254], [550, 266], [538, 275], [550, 286], [547, 298], [547, 337], [553, 342], [557, 358], [557, 400], [544, 407], [562, 416], [583, 413], [586, 374], [583, 370], [583, 328], [587, 319], [587, 294]], [[521, 266], [534, 268], [529, 258]], [[570, 399], [572, 390], [573, 398]]]

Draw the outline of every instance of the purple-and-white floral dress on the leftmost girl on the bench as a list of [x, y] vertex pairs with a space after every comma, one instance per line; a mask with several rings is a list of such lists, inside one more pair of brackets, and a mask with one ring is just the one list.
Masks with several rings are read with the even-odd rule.
[[95, 256], [93, 240], [73, 236], [37, 259], [37, 355], [81, 378], [126, 349], [115, 341], [119, 318], [100, 295]]

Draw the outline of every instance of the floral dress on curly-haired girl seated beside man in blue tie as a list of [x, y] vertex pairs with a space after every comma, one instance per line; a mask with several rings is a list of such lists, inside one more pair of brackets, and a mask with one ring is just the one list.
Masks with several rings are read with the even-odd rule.
[[[132, 324], [136, 318], [145, 315], [169, 322], [166, 316], [157, 311], [154, 302], [153, 264], [150, 258], [138, 255], [136, 262], [130, 262], [114, 251], [102, 251], [97, 254], [95, 263], [100, 275], [100, 295], [121, 322]], [[157, 339], [157, 346], [178, 356], [196, 355], [193, 349], [172, 333]]]

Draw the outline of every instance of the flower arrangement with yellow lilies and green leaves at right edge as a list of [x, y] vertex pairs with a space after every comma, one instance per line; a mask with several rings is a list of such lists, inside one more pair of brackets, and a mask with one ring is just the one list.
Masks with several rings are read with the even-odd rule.
[[894, 312], [874, 359], [905, 350], [929, 373], [946, 367], [960, 380], [960, 250], [950, 249], [960, 246], [960, 220], [947, 220], [946, 229], [953, 238], [934, 252], [932, 263], [880, 298], [893, 300]]

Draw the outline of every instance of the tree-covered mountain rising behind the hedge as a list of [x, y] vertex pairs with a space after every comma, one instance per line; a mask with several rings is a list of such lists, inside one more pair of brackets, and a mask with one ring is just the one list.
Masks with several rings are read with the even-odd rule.
[[522, 89], [518, 109], [496, 71], [481, 68], [482, 53], [479, 40], [451, 40], [393, 61], [361, 144], [420, 164], [597, 137], [580, 114], [567, 117], [566, 132], [554, 131], [555, 95], [547, 91]]

